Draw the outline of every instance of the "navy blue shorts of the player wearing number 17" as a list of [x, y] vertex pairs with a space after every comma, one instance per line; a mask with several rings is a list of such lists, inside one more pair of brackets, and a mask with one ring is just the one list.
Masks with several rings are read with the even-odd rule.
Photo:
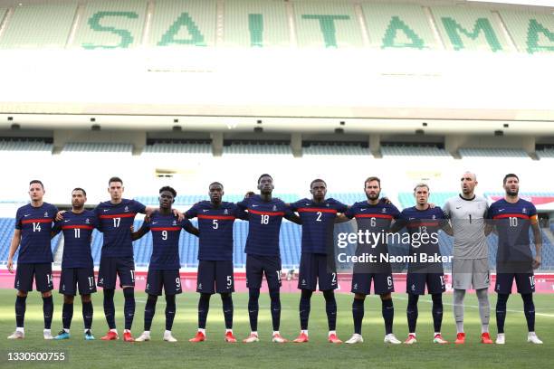
[[119, 287], [135, 287], [135, 261], [133, 258], [100, 258], [98, 287], [115, 289], [119, 276]]

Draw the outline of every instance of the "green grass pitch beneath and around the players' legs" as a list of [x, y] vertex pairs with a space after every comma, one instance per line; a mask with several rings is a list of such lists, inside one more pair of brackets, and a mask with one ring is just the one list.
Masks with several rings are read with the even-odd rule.
[[[261, 342], [245, 345], [243, 343], [224, 343], [224, 323], [221, 300], [215, 295], [210, 304], [207, 323], [207, 341], [190, 344], [188, 338], [196, 333], [196, 293], [185, 293], [177, 298], [177, 316], [173, 328], [174, 336], [179, 340], [169, 344], [162, 340], [164, 331], [163, 297], [158, 299], [156, 317], [152, 325], [152, 341], [146, 343], [102, 342], [100, 336], [107, 331], [102, 310], [101, 291], [93, 296], [94, 322], [92, 331], [96, 341], [82, 339], [81, 302], [76, 299], [72, 322], [72, 338], [66, 341], [43, 340], [42, 300], [37, 292], [27, 298], [25, 316], [25, 339], [9, 341], [6, 336], [14, 331], [15, 291], [0, 289], [0, 367], [34, 367], [36, 363], [9, 363], [9, 352], [60, 352], [67, 353], [69, 360], [64, 363], [38, 364], [38, 367], [79, 367], [84, 368], [210, 368], [216, 365], [224, 368], [269, 367], [269, 368], [367, 368], [387, 366], [395, 368], [548, 368], [554, 363], [554, 296], [536, 295], [537, 333], [544, 345], [527, 343], [527, 326], [521, 312], [521, 298], [512, 295], [506, 318], [506, 340], [504, 346], [481, 345], [479, 343], [480, 319], [474, 295], [466, 297], [465, 331], [466, 344], [463, 346], [434, 345], [432, 343], [433, 325], [430, 313], [430, 298], [420, 298], [419, 319], [417, 324], [418, 342], [413, 346], [383, 344], [384, 327], [381, 317], [381, 304], [378, 298], [366, 299], [363, 336], [365, 342], [359, 345], [331, 345], [327, 343], [327, 317], [324, 300], [320, 293], [314, 294], [311, 301], [310, 342], [307, 344], [278, 345], [271, 342], [271, 316], [269, 297], [260, 298], [259, 334]], [[395, 334], [400, 340], [406, 339], [406, 294], [396, 293]], [[242, 340], [249, 333], [246, 311], [247, 294], [234, 294], [234, 334]], [[298, 303], [300, 294], [282, 294], [282, 335], [293, 339], [298, 335]], [[496, 336], [494, 319], [495, 294], [491, 294], [492, 338]], [[346, 340], [352, 334], [350, 312], [352, 296], [337, 294], [339, 306], [337, 331], [339, 338]], [[146, 295], [137, 293], [137, 310], [133, 324], [134, 336], [139, 336], [143, 328], [143, 313]], [[451, 295], [444, 295], [443, 336], [454, 340], [455, 326], [452, 315]], [[62, 326], [62, 297], [54, 295], [53, 334]], [[116, 311], [119, 335], [123, 327], [123, 298], [120, 291], [116, 294]]]

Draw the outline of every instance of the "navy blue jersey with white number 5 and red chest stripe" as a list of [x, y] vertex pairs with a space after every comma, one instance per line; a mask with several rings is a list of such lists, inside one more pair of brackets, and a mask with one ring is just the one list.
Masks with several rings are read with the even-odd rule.
[[244, 215], [236, 204], [226, 202], [215, 207], [201, 201], [188, 209], [187, 218], [198, 218], [198, 260], [233, 260], [233, 224]]

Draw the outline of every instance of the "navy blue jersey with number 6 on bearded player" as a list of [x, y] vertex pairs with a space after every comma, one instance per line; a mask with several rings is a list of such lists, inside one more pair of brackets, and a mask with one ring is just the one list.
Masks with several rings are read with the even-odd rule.
[[350, 219], [356, 218], [358, 234], [364, 234], [361, 237], [363, 242], [358, 239], [358, 254], [387, 254], [387, 231], [391, 222], [400, 215], [395, 205], [383, 202], [372, 205], [367, 201], [360, 201], [354, 203], [344, 214]]

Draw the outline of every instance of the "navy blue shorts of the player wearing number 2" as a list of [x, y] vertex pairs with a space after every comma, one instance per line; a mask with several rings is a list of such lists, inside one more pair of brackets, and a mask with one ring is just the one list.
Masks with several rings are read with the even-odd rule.
[[337, 268], [334, 261], [332, 256], [329, 259], [326, 254], [302, 253], [298, 288], [315, 291], [319, 279], [320, 291], [337, 289]]

